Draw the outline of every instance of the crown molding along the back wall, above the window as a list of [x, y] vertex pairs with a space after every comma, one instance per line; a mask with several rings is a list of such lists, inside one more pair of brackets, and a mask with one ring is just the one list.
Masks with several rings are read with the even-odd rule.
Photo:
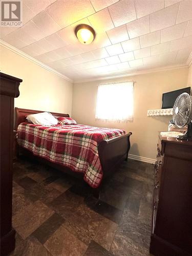
[[78, 80], [78, 81], [74, 80], [73, 83], [108, 80], [108, 79], [113, 79], [113, 78], [120, 78], [120, 77], [126, 77], [126, 76], [136, 76], [136, 75], [155, 73], [155, 72], [161, 72], [161, 71], [167, 71], [167, 70], [173, 70], [173, 69], [181, 69], [181, 68], [188, 68], [188, 66], [186, 64], [183, 64], [183, 65], [165, 66], [165, 67], [156, 68], [156, 69], [146, 69], [146, 70], [140, 70], [140, 71], [134, 71], [134, 72], [122, 72], [122, 73], [113, 74], [113, 75], [106, 75], [106, 76], [99, 76], [99, 77], [88, 78], [88, 79], [81, 79], [81, 80]]

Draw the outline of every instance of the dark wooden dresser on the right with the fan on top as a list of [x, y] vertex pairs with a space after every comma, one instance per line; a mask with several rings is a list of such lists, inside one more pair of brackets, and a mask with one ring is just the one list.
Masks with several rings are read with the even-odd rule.
[[159, 136], [150, 252], [192, 255], [192, 141]]

